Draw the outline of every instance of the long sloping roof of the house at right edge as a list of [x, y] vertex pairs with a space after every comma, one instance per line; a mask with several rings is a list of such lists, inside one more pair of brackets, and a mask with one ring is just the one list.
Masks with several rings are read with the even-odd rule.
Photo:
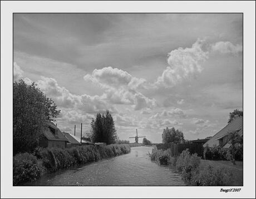
[[238, 131], [239, 135], [243, 135], [243, 117], [237, 117], [232, 122], [228, 123], [223, 129], [216, 133], [210, 138], [203, 146], [214, 147], [214, 145], [219, 145], [219, 139], [227, 136], [230, 132]]

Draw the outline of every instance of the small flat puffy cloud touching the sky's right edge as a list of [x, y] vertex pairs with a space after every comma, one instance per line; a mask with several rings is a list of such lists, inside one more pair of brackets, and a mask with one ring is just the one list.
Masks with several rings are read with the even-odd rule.
[[211, 51], [219, 53], [237, 54], [243, 51], [243, 46], [239, 44], [234, 45], [231, 42], [221, 41], [211, 44]]

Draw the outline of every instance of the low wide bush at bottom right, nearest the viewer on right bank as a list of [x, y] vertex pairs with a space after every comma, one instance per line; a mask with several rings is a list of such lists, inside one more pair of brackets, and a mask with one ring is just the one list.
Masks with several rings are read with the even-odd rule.
[[193, 186], [229, 186], [232, 173], [224, 167], [200, 166], [192, 173]]

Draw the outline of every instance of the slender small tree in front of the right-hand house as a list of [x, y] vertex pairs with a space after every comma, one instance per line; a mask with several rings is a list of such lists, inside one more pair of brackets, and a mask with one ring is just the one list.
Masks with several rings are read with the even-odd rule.
[[228, 142], [230, 143], [231, 157], [230, 160], [235, 165], [235, 150], [238, 145], [243, 147], [243, 137], [239, 135], [238, 131], [232, 131], [228, 134]]

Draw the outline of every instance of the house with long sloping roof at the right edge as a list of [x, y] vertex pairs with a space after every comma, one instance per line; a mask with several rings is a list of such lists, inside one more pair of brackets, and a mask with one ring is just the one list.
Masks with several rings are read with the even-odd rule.
[[229, 148], [228, 135], [230, 132], [238, 131], [240, 136], [243, 136], [243, 117], [237, 117], [232, 122], [228, 123], [223, 129], [210, 138], [203, 146], [209, 147], [220, 146]]

